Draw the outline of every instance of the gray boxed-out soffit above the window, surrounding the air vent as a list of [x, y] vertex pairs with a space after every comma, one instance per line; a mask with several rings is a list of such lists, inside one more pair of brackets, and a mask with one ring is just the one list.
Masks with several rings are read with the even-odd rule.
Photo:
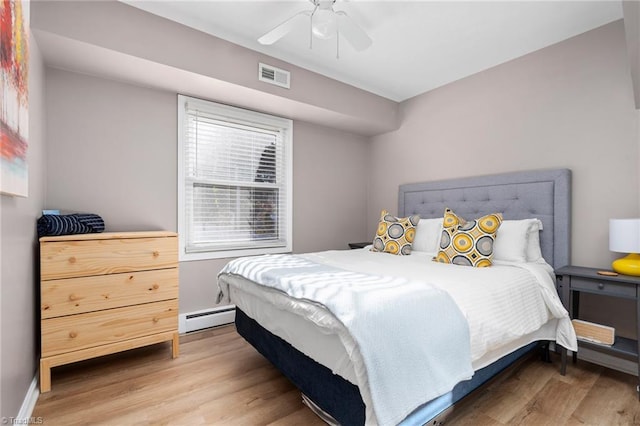
[[[398, 128], [394, 101], [119, 1], [38, 1], [32, 12], [47, 65], [56, 68], [358, 134]], [[291, 88], [259, 81], [258, 62], [290, 71]]]

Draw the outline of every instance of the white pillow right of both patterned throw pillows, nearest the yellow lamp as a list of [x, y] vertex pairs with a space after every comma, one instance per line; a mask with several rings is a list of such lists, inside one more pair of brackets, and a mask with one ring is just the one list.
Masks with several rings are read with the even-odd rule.
[[542, 257], [539, 219], [504, 220], [493, 243], [493, 259], [503, 262], [535, 262]]

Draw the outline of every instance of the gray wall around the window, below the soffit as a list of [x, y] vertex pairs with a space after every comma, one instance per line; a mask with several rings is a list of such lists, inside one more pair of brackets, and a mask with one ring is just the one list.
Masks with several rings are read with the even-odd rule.
[[[51, 68], [46, 93], [47, 208], [175, 231], [176, 94]], [[347, 248], [366, 234], [367, 138], [301, 121], [293, 133], [294, 251]], [[215, 304], [227, 261], [180, 264], [182, 313]]]

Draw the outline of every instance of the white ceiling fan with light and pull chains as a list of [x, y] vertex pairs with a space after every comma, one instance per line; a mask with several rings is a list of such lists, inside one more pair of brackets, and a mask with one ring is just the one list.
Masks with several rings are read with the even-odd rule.
[[344, 37], [354, 49], [365, 50], [371, 46], [371, 38], [342, 10], [334, 10], [336, 0], [309, 0], [313, 10], [298, 12], [258, 39], [260, 44], [273, 44], [289, 34], [301, 22], [308, 20], [312, 47], [313, 37], [327, 40], [336, 38], [336, 53], [339, 56], [340, 36]]

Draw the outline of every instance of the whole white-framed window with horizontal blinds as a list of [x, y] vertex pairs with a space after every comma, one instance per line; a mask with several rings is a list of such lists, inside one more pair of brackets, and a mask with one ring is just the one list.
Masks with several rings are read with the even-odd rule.
[[292, 130], [178, 95], [180, 260], [291, 251]]

